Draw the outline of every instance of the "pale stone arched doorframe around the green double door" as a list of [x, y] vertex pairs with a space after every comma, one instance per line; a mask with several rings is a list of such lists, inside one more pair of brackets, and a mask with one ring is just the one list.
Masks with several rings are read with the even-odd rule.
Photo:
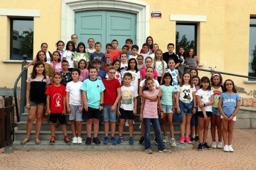
[[139, 0], [117, 1], [81, 1], [62, 0], [61, 3], [61, 39], [64, 42], [70, 40], [75, 31], [75, 12], [85, 10], [111, 10], [118, 12], [130, 12], [137, 14], [136, 42], [139, 47], [145, 43], [150, 35], [150, 4]]

